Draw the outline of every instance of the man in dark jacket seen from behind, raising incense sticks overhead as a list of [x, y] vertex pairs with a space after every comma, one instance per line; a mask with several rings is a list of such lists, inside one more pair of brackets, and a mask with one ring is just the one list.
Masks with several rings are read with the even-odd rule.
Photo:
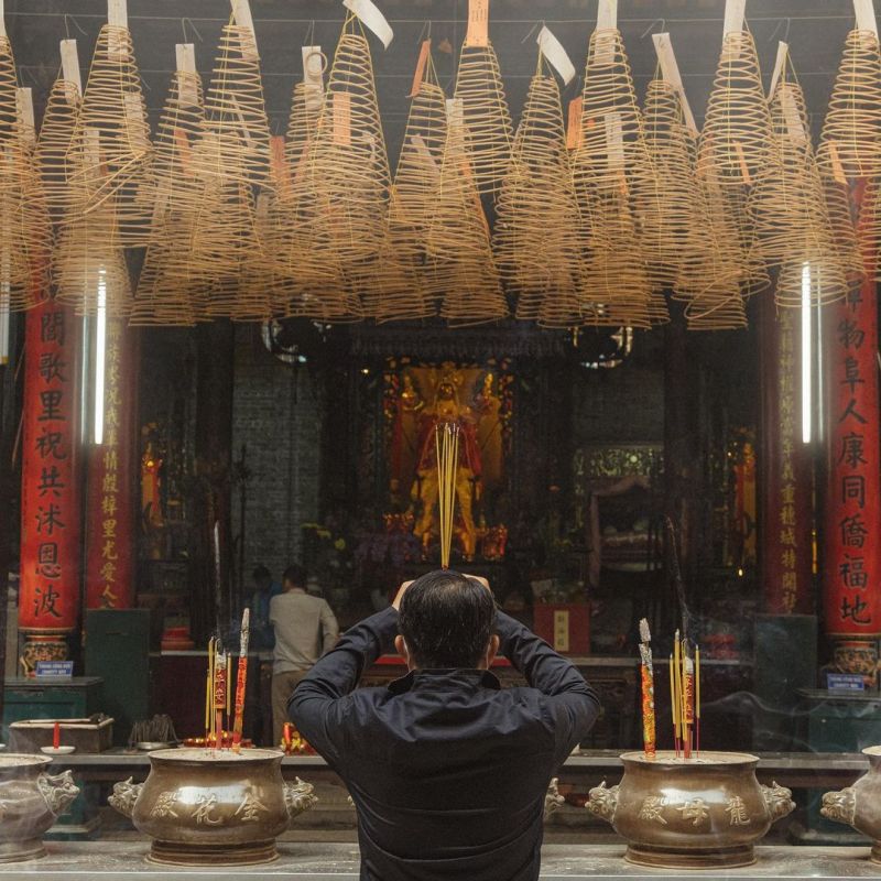
[[[357, 688], [393, 648], [410, 673]], [[500, 688], [499, 651], [529, 687]], [[345, 633], [289, 711], [355, 801], [362, 881], [532, 881], [547, 785], [599, 701], [486, 581], [433, 572]]]

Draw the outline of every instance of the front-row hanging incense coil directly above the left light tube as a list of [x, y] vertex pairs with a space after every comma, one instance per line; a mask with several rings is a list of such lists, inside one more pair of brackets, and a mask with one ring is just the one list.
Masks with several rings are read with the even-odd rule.
[[105, 24], [67, 156], [76, 204], [65, 222], [112, 200], [118, 241], [146, 243], [154, 200], [152, 152], [131, 33]]

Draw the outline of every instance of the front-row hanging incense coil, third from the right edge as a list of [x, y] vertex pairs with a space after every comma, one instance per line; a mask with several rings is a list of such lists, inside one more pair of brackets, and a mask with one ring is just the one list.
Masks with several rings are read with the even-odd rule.
[[594, 31], [581, 95], [581, 130], [572, 163], [576, 184], [627, 193], [652, 170], [630, 63], [620, 31]]

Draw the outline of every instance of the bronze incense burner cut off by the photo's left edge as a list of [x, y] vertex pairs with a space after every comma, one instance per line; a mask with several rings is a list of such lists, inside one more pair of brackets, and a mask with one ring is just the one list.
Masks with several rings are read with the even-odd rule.
[[51, 776], [44, 755], [0, 755], [0, 862], [44, 857], [42, 837], [79, 794], [69, 771]]

